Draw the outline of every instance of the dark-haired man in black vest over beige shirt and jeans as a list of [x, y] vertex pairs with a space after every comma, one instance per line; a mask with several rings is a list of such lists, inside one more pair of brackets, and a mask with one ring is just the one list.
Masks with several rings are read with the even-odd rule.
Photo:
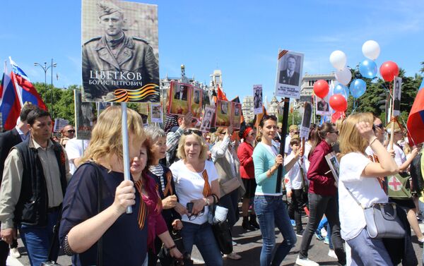
[[71, 175], [66, 152], [50, 139], [50, 114], [42, 109], [30, 111], [28, 125], [30, 137], [15, 145], [4, 163], [1, 239], [12, 243], [18, 228], [31, 265], [41, 265], [48, 258], [53, 227]]

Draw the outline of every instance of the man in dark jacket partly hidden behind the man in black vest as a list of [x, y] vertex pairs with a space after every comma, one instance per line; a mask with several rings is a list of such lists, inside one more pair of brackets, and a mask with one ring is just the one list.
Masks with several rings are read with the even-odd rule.
[[[33, 104], [25, 104], [20, 110], [19, 123], [15, 128], [0, 134], [0, 186], [3, 177], [4, 161], [14, 145], [17, 145], [28, 138], [29, 130], [27, 118], [30, 111], [37, 109]], [[11, 255], [19, 258], [18, 241], [13, 240], [11, 244]], [[6, 265], [7, 255], [9, 253], [9, 245], [3, 240], [0, 240], [0, 266]]]

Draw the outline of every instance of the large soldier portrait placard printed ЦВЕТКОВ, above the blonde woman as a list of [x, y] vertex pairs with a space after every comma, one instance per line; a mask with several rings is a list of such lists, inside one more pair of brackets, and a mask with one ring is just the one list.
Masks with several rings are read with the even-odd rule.
[[158, 7], [82, 0], [84, 102], [160, 102]]

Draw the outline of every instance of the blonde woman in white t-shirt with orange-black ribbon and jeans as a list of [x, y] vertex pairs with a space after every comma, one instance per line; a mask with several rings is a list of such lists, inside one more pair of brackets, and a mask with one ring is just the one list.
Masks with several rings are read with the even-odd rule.
[[209, 205], [218, 201], [218, 173], [213, 162], [206, 160], [208, 145], [196, 129], [185, 129], [179, 139], [179, 161], [170, 167], [179, 203], [187, 206], [182, 215], [182, 241], [184, 249], [192, 253], [195, 244], [206, 265], [220, 266], [223, 260], [208, 223]]

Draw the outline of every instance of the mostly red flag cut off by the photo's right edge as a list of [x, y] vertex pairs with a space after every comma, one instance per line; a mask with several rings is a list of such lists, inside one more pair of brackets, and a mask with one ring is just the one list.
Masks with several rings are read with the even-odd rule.
[[[411, 111], [408, 116], [408, 137], [409, 143], [424, 142], [424, 80], [413, 101]], [[411, 141], [412, 140], [412, 141]]]

